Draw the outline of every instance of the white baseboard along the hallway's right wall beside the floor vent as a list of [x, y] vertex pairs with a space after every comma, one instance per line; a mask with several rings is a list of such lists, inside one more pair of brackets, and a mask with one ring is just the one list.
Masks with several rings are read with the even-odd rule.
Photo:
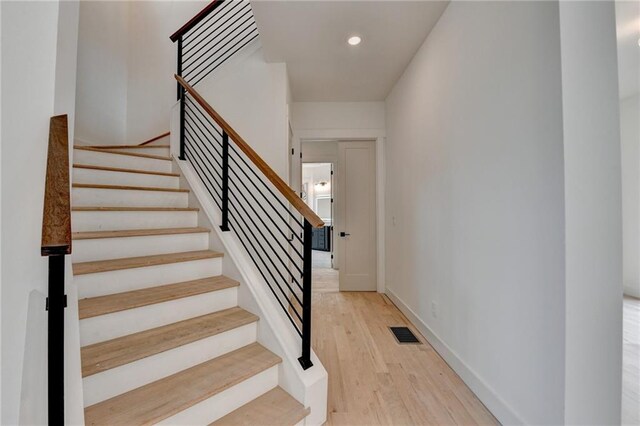
[[386, 295], [396, 305], [398, 309], [411, 321], [411, 323], [422, 333], [429, 344], [440, 354], [447, 364], [455, 371], [458, 376], [478, 399], [487, 407], [489, 411], [503, 425], [523, 425], [527, 424], [522, 417], [516, 413], [485, 381], [478, 376], [465, 362], [460, 359], [440, 337], [431, 330], [431, 328], [416, 315], [409, 306], [400, 299], [390, 288], [387, 287]]

